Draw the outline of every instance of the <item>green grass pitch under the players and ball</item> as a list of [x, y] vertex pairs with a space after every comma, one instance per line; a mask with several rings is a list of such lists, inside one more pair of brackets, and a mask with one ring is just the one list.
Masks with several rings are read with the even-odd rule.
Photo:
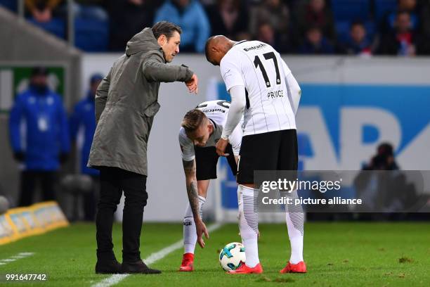
[[[430, 286], [430, 226], [426, 223], [306, 223], [307, 274], [278, 274], [289, 258], [285, 224], [260, 224], [259, 255], [264, 273], [229, 275], [218, 261], [220, 248], [240, 241], [237, 224], [211, 232], [196, 248], [195, 272], [179, 273], [182, 249], [152, 264], [160, 275], [131, 275], [115, 286]], [[144, 224], [142, 257], [181, 239], [181, 224]], [[47, 234], [0, 246], [0, 260], [34, 255], [0, 265], [0, 286], [92, 286], [109, 275], [94, 274], [95, 227], [72, 224]], [[121, 225], [114, 244], [121, 260]], [[47, 274], [44, 282], [6, 282], [5, 274]]]

